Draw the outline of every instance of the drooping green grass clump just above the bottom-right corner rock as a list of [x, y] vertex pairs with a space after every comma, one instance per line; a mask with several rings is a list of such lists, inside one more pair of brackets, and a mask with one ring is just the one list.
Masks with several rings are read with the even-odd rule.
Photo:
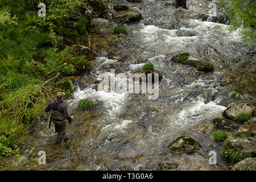
[[241, 150], [234, 150], [232, 148], [224, 148], [222, 150], [224, 158], [228, 159], [230, 163], [234, 164], [240, 162], [245, 158], [251, 157], [251, 152], [245, 152]]

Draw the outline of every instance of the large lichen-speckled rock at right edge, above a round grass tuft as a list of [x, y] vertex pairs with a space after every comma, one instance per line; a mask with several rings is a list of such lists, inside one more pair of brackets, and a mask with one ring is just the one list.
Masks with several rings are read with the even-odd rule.
[[255, 111], [255, 107], [248, 102], [243, 102], [240, 104], [236, 104], [228, 107], [223, 111], [222, 115], [228, 119], [234, 119], [240, 113], [250, 113], [253, 115]]

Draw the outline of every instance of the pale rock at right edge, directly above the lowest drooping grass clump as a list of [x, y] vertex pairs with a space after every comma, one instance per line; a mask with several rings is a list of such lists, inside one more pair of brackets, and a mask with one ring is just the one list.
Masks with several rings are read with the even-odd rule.
[[238, 138], [234, 140], [229, 140], [226, 143], [227, 148], [232, 148], [238, 151], [251, 152], [253, 155], [256, 154], [256, 138]]

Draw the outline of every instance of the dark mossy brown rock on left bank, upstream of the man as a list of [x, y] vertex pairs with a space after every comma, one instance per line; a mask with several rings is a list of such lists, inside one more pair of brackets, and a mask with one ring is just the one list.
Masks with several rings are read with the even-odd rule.
[[89, 72], [91, 69], [88, 61], [77, 59], [77, 58], [62, 57], [59, 59], [59, 62], [61, 64], [68, 64], [68, 65], [72, 64], [73, 68], [76, 70], [74, 75], [65, 75], [65, 76], [83, 75], [84, 73]]

